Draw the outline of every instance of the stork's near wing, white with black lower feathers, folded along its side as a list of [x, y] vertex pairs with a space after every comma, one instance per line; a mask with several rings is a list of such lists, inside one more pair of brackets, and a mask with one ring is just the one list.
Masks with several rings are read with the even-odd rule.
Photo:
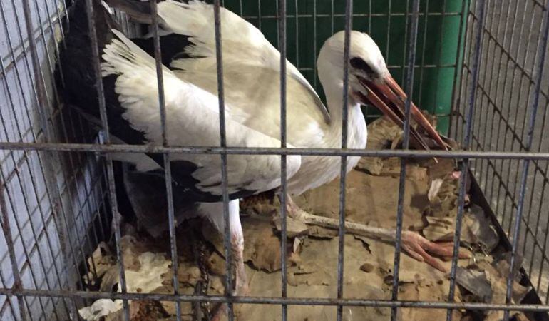
[[[118, 75], [115, 91], [130, 125], [145, 133], [150, 143], [162, 143], [155, 61], [118, 31], [104, 49], [103, 76]], [[182, 81], [163, 68], [168, 140], [173, 146], [219, 146], [217, 97]], [[280, 141], [242, 125], [226, 107], [227, 146], [279, 147]], [[151, 156], [153, 159], [158, 156]], [[160, 158], [161, 160], [161, 158]], [[195, 200], [214, 201], [222, 195], [219, 155], [175, 154], [170, 158], [175, 183], [190, 190]], [[158, 161], [161, 163], [161, 161]], [[301, 163], [288, 156], [291, 177]], [[276, 188], [280, 184], [280, 157], [270, 155], [228, 156], [227, 177], [232, 198]]]

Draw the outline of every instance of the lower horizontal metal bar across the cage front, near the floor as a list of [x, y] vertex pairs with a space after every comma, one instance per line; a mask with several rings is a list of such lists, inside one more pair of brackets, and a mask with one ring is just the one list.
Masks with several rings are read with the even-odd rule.
[[315, 297], [227, 297], [221, 295], [170, 295], [159, 293], [121, 293], [121, 292], [85, 292], [66, 290], [15, 290], [1, 288], [0, 295], [23, 295], [28, 297], [68, 297], [81, 299], [112, 300], [157, 300], [183, 302], [231, 302], [254, 305], [344, 305], [349, 307], [415, 307], [426, 309], [466, 309], [466, 310], [513, 310], [549, 312], [549, 305], [502, 305], [471, 302], [434, 302], [434, 301], [389, 301], [369, 299], [330, 299]]

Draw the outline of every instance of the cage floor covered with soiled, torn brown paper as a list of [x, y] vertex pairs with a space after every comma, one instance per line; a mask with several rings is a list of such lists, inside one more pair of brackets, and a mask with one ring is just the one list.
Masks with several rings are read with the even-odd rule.
[[[399, 140], [398, 130], [393, 132], [394, 128], [387, 128], [382, 120], [369, 128], [370, 148], [376, 148], [380, 143], [391, 144], [391, 141], [376, 141], [379, 137], [384, 140], [393, 137], [392, 142]], [[457, 213], [458, 193], [455, 165], [451, 160], [409, 162], [406, 166], [404, 230], [420, 231], [431, 240], [453, 237], [452, 222]], [[394, 228], [399, 170], [399, 159], [363, 158], [347, 177], [347, 219]], [[295, 201], [309, 213], [337, 218], [339, 180], [310, 190]], [[505, 247], [500, 245], [495, 228], [481, 228], [491, 224], [488, 216], [483, 215], [482, 210], [478, 212], [478, 207], [473, 210], [475, 207], [469, 205], [463, 220], [462, 239], [484, 244], [491, 254], [474, 253], [476, 260], [459, 261], [456, 300], [503, 303], [506, 291], [503, 275], [508, 269]], [[278, 209], [279, 203], [273, 195], [251, 198], [241, 205], [246, 272], [252, 296], [277, 297], [281, 293]], [[128, 291], [173, 292], [169, 239], [152, 240], [128, 226], [121, 244]], [[336, 297], [337, 230], [307, 226], [289, 219], [288, 236], [288, 296]], [[351, 234], [346, 235], [344, 244], [344, 297], [389, 300], [394, 245]], [[180, 293], [196, 293], [198, 284], [208, 284], [205, 292], [210, 295], [224, 292], [222, 237], [211, 225], [200, 220], [182, 224], [178, 228], [178, 251]], [[101, 279], [95, 286], [106, 291], [116, 289], [118, 268], [112, 250], [108, 245], [100, 245], [93, 258]], [[202, 272], [197, 264], [200, 260]], [[91, 260], [88, 261], [91, 265]], [[450, 269], [451, 262], [443, 264]], [[517, 280], [519, 278], [517, 275]], [[406, 254], [401, 255], [399, 280], [399, 300], [446, 301], [448, 298], [448, 274]], [[522, 301], [530, 290], [518, 282], [513, 289], [515, 302]], [[103, 314], [106, 320], [118, 320], [121, 315], [121, 302], [101, 300], [94, 305], [93, 309], [81, 310], [81, 316], [86, 320], [98, 320], [96, 317]], [[173, 302], [131, 302], [130, 311], [132, 320], [175, 320]], [[191, 320], [195, 312], [190, 303], [182, 303], [182, 315], [186, 319]], [[344, 307], [344, 320], [389, 320], [390, 312], [389, 308]], [[288, 320], [335, 320], [336, 313], [337, 307], [289, 306]], [[503, 312], [485, 315], [458, 310], [453, 313], [453, 320], [501, 320], [503, 315]], [[280, 320], [281, 308], [279, 305], [235, 305], [235, 315], [237, 320]], [[400, 320], [445, 320], [446, 310], [399, 309], [399, 317]], [[521, 313], [515, 317], [517, 320], [536, 320]]]

